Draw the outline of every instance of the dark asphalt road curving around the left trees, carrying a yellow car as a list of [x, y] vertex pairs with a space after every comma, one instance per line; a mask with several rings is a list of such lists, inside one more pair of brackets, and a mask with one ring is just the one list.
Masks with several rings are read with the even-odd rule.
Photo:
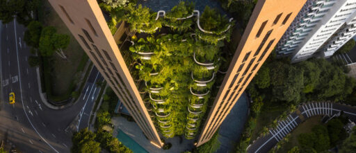
[[[16, 21], [0, 27], [0, 136], [6, 136], [22, 152], [70, 152], [71, 134], [65, 128], [80, 114], [79, 129], [88, 127], [99, 92], [95, 82], [102, 81], [102, 76], [92, 69], [83, 90], [86, 98], [82, 94], [67, 109], [49, 109], [40, 100], [35, 68], [28, 64], [30, 48], [23, 41], [26, 28]], [[11, 91], [15, 92], [14, 105], [8, 104]]]

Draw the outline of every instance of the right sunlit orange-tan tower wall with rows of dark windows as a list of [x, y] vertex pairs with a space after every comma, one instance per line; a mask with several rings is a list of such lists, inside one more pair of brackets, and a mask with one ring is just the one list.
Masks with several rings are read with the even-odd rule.
[[245, 88], [304, 5], [305, 0], [259, 0], [245, 28], [238, 48], [207, 121], [197, 141], [206, 143], [220, 127]]

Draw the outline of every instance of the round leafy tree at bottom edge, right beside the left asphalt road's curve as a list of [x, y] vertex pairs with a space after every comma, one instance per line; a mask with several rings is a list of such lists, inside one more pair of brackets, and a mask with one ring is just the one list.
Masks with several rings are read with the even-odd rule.
[[71, 152], [73, 153], [99, 153], [101, 148], [99, 147], [100, 143], [94, 141], [96, 137], [95, 133], [92, 133], [88, 128], [81, 129], [80, 132], [77, 132], [72, 137], [73, 146]]

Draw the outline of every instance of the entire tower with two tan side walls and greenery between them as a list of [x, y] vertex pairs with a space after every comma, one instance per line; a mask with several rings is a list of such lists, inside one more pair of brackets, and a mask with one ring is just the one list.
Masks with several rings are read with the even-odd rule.
[[[96, 0], [49, 0], [138, 126], [159, 147], [160, 136], [199, 134], [198, 146], [209, 141], [305, 1], [257, 2], [209, 109], [223, 61], [223, 40], [229, 39], [233, 19], [216, 16], [209, 8], [194, 10], [191, 3], [177, 6], [187, 10], [184, 15], [172, 13], [175, 8], [152, 12], [129, 4], [124, 11], [128, 24], [117, 24], [103, 15], [114, 8], [101, 10]], [[220, 24], [204, 24], [209, 19]]]

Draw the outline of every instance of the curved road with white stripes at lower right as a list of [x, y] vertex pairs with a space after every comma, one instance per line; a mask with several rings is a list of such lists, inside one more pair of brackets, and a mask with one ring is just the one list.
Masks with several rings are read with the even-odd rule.
[[247, 148], [247, 151], [249, 153], [268, 152], [281, 141], [286, 134], [289, 134], [302, 123], [303, 120], [312, 116], [332, 116], [340, 111], [343, 111], [343, 115], [348, 116], [350, 120], [356, 122], [356, 107], [333, 102], [302, 103], [298, 109], [292, 114], [289, 114], [286, 119], [280, 120], [277, 127], [269, 129], [268, 135], [257, 138], [257, 140]]

